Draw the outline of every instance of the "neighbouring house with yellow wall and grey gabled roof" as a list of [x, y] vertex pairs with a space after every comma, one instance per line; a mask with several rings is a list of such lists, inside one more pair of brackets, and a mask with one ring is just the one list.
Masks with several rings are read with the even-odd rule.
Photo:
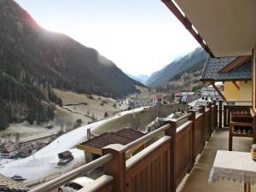
[[[252, 101], [252, 60], [250, 56], [209, 58], [201, 81], [224, 82], [224, 100]], [[220, 92], [218, 90], [218, 92]]]

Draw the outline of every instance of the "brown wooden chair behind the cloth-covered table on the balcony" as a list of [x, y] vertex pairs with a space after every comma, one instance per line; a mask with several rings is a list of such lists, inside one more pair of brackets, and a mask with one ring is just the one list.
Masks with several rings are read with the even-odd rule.
[[252, 137], [256, 143], [256, 115], [250, 113], [231, 113], [229, 150], [232, 151], [233, 137]]

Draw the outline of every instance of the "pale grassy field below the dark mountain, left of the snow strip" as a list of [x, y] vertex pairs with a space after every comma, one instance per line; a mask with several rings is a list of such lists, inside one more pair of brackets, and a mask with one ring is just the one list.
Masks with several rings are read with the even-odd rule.
[[[65, 106], [65, 108], [56, 106], [55, 119], [52, 122], [41, 125], [29, 125], [27, 122], [10, 124], [5, 131], [0, 131], [1, 142], [15, 142], [17, 134], [20, 135], [20, 141], [49, 136], [58, 133], [61, 130], [61, 126], [64, 130], [73, 129], [73, 125], [75, 125], [77, 119], [82, 119], [82, 125], [87, 125], [88, 122], [92, 121], [92, 118], [90, 118], [91, 116], [94, 116], [96, 119], [103, 119], [105, 112], [109, 115], [113, 115], [113, 113], [117, 113], [120, 110], [119, 106], [117, 106], [117, 108], [113, 107], [113, 104], [116, 103], [116, 101], [111, 98], [92, 96], [93, 99], [90, 99], [87, 95], [71, 91], [54, 91], [57, 96], [61, 97], [63, 105], [82, 102], [86, 102], [87, 105]], [[104, 104], [101, 105], [101, 103]], [[89, 117], [86, 116], [88, 114]], [[47, 125], [53, 125], [53, 129], [47, 129]]]

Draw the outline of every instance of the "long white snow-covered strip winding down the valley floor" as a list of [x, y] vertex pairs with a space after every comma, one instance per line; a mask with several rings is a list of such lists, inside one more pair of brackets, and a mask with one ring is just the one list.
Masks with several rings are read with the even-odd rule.
[[[142, 110], [143, 108], [137, 108], [134, 109], [134, 112], [139, 112]], [[118, 119], [127, 113], [132, 113], [132, 110], [122, 112], [113, 118], [104, 119], [67, 132], [61, 137], [56, 138], [55, 141], [50, 143], [45, 148], [42, 148], [37, 153], [25, 159], [14, 160], [5, 164], [1, 162], [3, 165], [0, 166], [0, 173], [7, 177], [20, 175], [21, 177], [25, 177], [27, 179], [26, 182], [32, 182], [58, 172], [70, 171], [73, 169], [73, 167], [77, 167], [85, 163], [84, 152], [76, 149], [75, 146], [76, 144], [82, 143], [85, 140], [87, 135], [86, 130], [89, 128], [91, 131], [96, 130], [99, 125], [108, 122], [108, 120]], [[74, 160], [68, 163], [66, 166], [57, 166], [59, 161], [58, 154], [66, 150], [70, 150], [72, 152]]]

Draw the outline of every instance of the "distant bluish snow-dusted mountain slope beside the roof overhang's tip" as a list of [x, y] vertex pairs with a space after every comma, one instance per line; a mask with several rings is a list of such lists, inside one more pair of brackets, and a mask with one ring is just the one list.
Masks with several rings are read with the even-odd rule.
[[197, 48], [190, 52], [188, 55], [178, 58], [172, 61], [169, 65], [162, 68], [160, 71], [153, 73], [148, 81], [147, 85], [150, 88], [158, 88], [166, 85], [166, 83], [173, 79], [178, 79], [183, 73], [194, 73], [195, 71], [202, 69], [207, 61], [207, 53], [201, 48]]

